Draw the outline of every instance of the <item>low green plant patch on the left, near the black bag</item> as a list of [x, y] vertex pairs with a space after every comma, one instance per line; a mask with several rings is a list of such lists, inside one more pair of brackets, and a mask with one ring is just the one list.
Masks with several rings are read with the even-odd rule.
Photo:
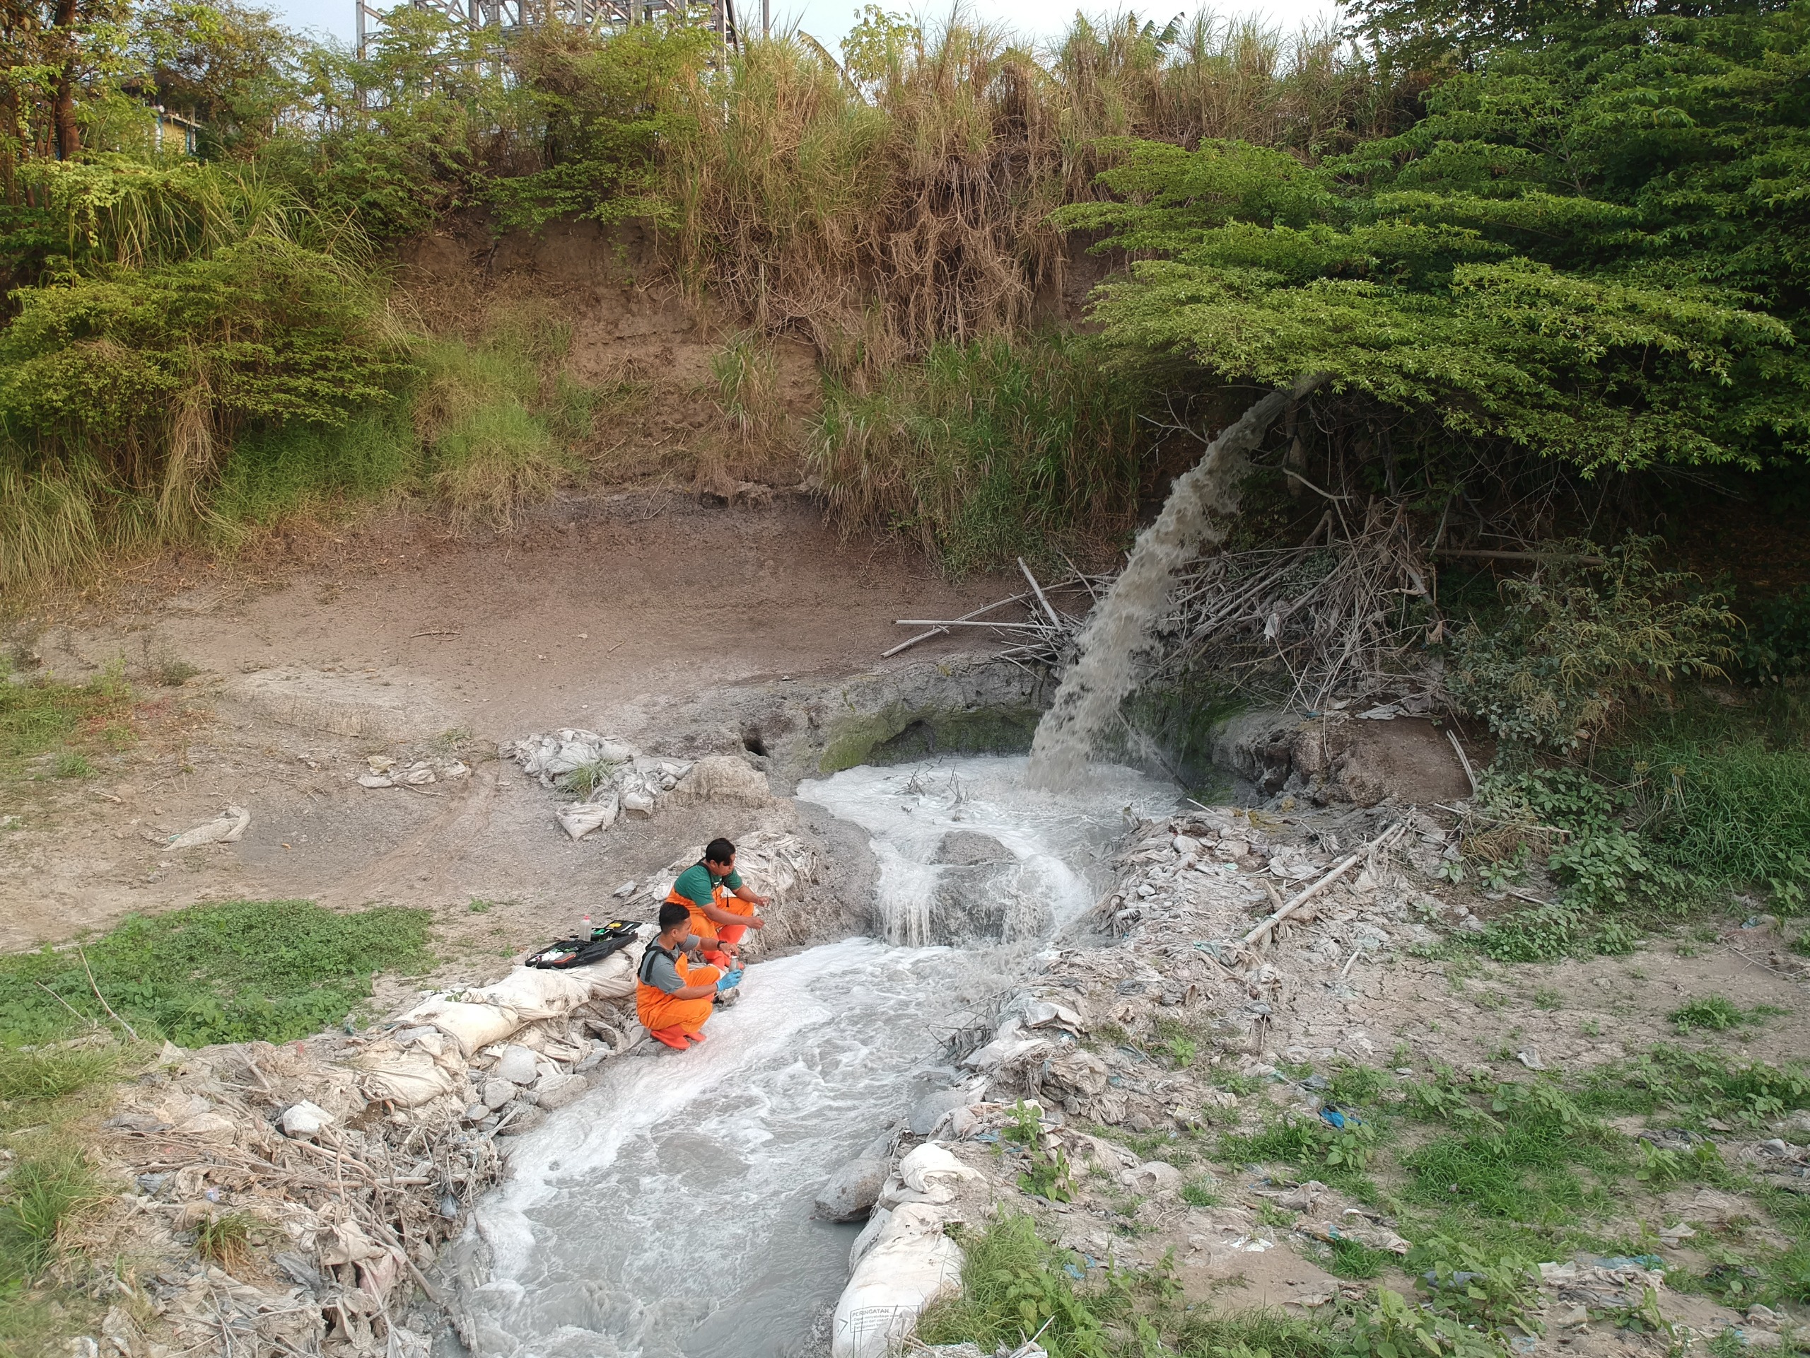
[[[427, 911], [387, 905], [338, 914], [299, 900], [223, 902], [130, 916], [83, 952], [101, 994], [145, 1038], [288, 1041], [360, 1009], [376, 972], [429, 965], [427, 923]], [[0, 1043], [81, 1030], [71, 1009], [109, 1021], [74, 949], [0, 958]]]

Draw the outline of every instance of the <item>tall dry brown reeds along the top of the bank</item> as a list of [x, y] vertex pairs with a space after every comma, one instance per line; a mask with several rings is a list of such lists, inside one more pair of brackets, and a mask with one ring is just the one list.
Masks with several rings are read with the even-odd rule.
[[1200, 14], [1157, 33], [1077, 20], [1037, 53], [954, 20], [867, 87], [816, 43], [755, 42], [677, 94], [666, 147], [688, 286], [860, 382], [934, 342], [1052, 319], [1050, 212], [1095, 196], [1111, 138], [1240, 138], [1314, 156], [1372, 120], [1336, 36]]

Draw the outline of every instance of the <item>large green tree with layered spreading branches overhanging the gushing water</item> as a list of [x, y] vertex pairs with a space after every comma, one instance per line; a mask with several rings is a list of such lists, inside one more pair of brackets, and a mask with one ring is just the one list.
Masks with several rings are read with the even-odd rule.
[[1149, 259], [1108, 340], [1586, 473], [1810, 445], [1810, 4], [1548, 33], [1303, 165], [1126, 143], [1062, 212]]

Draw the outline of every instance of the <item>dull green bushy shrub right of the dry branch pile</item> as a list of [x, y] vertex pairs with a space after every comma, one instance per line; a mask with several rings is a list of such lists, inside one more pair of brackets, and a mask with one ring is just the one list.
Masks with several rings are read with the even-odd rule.
[[1734, 614], [1720, 594], [1692, 594], [1694, 576], [1654, 567], [1653, 547], [1629, 538], [1589, 565], [1595, 543], [1555, 543], [1537, 572], [1502, 581], [1495, 625], [1457, 632], [1446, 688], [1499, 741], [1569, 753], [1674, 675], [1720, 675]]

